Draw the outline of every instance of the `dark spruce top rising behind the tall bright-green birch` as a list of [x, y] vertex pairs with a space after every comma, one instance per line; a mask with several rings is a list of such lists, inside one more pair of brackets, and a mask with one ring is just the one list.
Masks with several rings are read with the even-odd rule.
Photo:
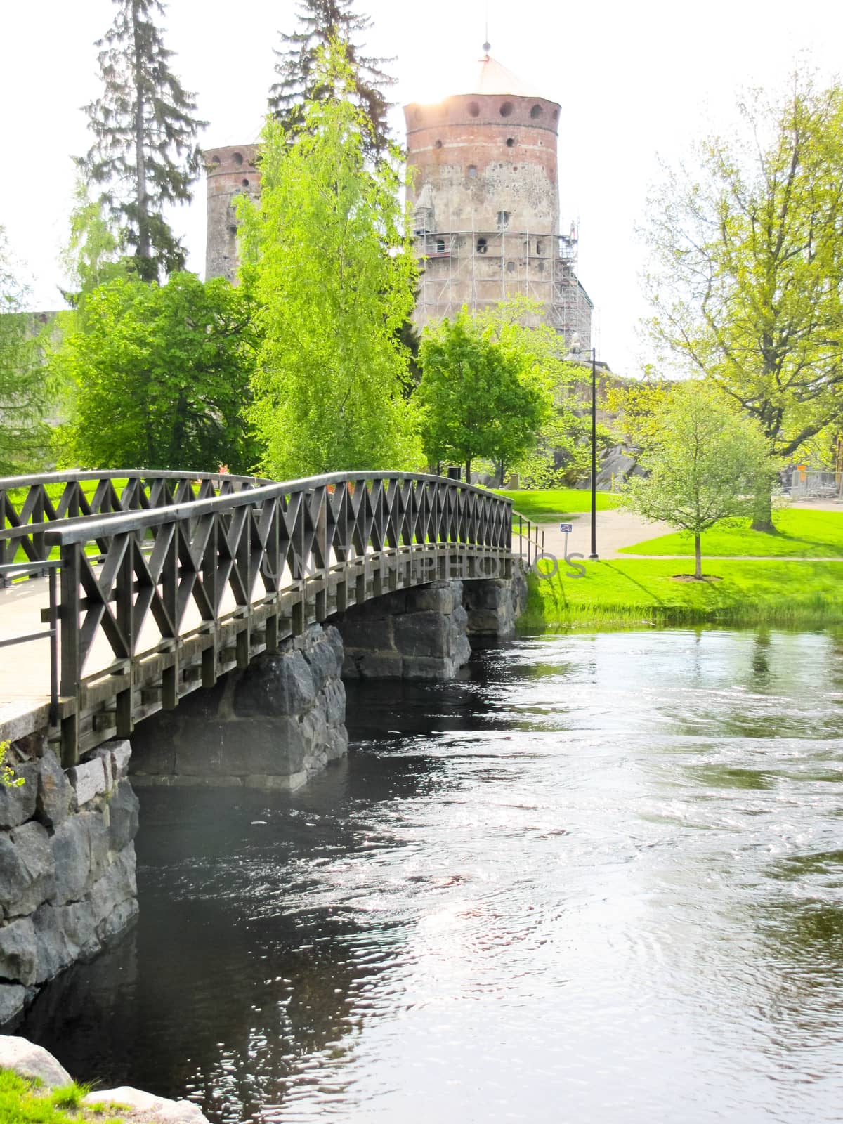
[[341, 47], [353, 74], [352, 101], [369, 118], [372, 132], [365, 138], [369, 155], [381, 156], [390, 146], [384, 87], [395, 85], [396, 79], [381, 70], [391, 58], [369, 58], [361, 54], [362, 44], [353, 37], [372, 26], [368, 16], [352, 11], [353, 0], [300, 0], [297, 13], [300, 28], [292, 35], [280, 31], [284, 49], [277, 51], [275, 73], [279, 81], [270, 90], [270, 112], [283, 125], [288, 134], [305, 128], [305, 102], [326, 101], [335, 97], [333, 87], [325, 82], [325, 71], [317, 66], [320, 48], [330, 43]]

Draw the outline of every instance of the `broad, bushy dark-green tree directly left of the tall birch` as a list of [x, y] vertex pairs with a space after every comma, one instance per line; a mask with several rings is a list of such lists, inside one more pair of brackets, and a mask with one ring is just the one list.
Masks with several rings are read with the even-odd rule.
[[221, 278], [100, 285], [51, 361], [75, 391], [62, 460], [248, 472], [259, 452], [245, 419], [254, 354], [251, 301]]

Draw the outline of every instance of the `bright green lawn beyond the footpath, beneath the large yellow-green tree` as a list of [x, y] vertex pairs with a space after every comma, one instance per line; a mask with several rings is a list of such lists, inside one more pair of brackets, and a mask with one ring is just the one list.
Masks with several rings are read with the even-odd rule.
[[[843, 558], [843, 511], [810, 511], [787, 508], [778, 511], [776, 533], [751, 531], [749, 519], [732, 519], [711, 527], [703, 535], [703, 556], [728, 558]], [[694, 538], [685, 532], [659, 535], [622, 554], [694, 554]]]

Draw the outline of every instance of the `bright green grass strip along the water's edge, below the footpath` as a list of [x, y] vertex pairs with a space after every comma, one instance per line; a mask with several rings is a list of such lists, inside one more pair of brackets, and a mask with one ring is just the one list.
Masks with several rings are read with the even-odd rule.
[[674, 581], [691, 566], [676, 559], [584, 562], [586, 577], [563, 564], [553, 578], [529, 578], [525, 631], [629, 627], [636, 624], [780, 624], [843, 622], [843, 562], [724, 560], [705, 562], [719, 581]]

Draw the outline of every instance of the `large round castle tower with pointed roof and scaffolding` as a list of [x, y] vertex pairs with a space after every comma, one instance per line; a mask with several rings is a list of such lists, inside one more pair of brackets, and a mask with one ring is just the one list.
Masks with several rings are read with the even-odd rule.
[[589, 347], [593, 306], [577, 279], [577, 236], [559, 233], [560, 106], [483, 51], [469, 90], [404, 110], [424, 270], [416, 324], [523, 293]]

